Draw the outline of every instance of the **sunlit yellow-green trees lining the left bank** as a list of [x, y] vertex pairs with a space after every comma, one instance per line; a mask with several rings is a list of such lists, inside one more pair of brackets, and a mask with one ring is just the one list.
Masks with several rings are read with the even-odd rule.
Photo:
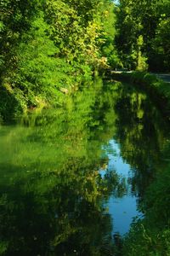
[[[77, 90], [116, 62], [114, 5], [108, 0], [0, 1], [0, 114]], [[108, 63], [107, 63], [108, 61]]]

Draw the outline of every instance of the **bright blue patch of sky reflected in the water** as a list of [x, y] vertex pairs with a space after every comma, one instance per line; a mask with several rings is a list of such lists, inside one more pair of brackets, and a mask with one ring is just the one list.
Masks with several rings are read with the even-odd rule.
[[[107, 150], [104, 147], [105, 153], [108, 156], [109, 163], [108, 170], [115, 170], [118, 176], [124, 177], [127, 184], [127, 191], [122, 197], [115, 197], [111, 195], [108, 201], [105, 201], [105, 207], [108, 208], [109, 214], [111, 214], [113, 230], [112, 234], [119, 233], [121, 236], [125, 235], [130, 224], [133, 222], [134, 217], [142, 217], [142, 213], [137, 210], [138, 197], [133, 195], [132, 186], [128, 182], [128, 178], [132, 177], [131, 166], [129, 166], [125, 160], [122, 159], [119, 145], [114, 139], [109, 142], [110, 148], [113, 149], [115, 154], [111, 154], [111, 150]], [[100, 170], [102, 177], [105, 175], [105, 169]]]

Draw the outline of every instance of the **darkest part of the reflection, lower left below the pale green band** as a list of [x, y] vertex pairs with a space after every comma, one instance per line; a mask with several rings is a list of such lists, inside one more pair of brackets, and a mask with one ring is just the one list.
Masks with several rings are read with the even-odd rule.
[[71, 159], [59, 172], [18, 173], [1, 183], [6, 254], [107, 255], [111, 222], [100, 205], [97, 177], [92, 166]]

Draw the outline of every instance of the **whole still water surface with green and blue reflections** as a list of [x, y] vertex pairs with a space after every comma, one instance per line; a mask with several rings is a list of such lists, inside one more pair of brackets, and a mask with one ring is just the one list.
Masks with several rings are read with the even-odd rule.
[[131, 85], [96, 81], [0, 126], [0, 254], [114, 255], [159, 166], [168, 125]]

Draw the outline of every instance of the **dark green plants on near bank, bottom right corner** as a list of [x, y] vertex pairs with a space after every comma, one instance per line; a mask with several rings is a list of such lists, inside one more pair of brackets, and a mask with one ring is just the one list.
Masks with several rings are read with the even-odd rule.
[[123, 255], [170, 253], [169, 166], [157, 174], [144, 197], [144, 219], [133, 224], [125, 238]]

